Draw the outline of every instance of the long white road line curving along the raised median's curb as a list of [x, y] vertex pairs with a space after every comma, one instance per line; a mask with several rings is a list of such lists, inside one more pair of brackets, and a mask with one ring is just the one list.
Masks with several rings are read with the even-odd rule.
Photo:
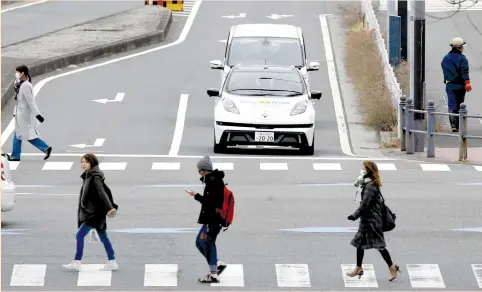
[[[62, 73], [62, 74], [59, 74], [59, 75], [54, 75], [54, 76], [50, 76], [48, 78], [45, 78], [43, 80], [40, 80], [34, 87], [34, 94], [35, 96], [38, 95], [38, 93], [40, 92], [40, 90], [42, 89], [42, 87], [47, 84], [48, 82], [52, 81], [52, 80], [55, 80], [55, 79], [58, 79], [60, 77], [64, 77], [64, 76], [69, 76], [69, 75], [72, 75], [72, 74], [75, 74], [75, 73], [79, 73], [79, 72], [83, 72], [83, 71], [86, 71], [86, 70], [91, 70], [91, 69], [95, 69], [95, 68], [98, 68], [98, 67], [102, 67], [102, 66], [105, 66], [105, 65], [109, 65], [109, 64], [113, 64], [113, 63], [117, 63], [117, 62], [120, 62], [120, 61], [123, 61], [123, 60], [128, 60], [128, 59], [132, 59], [132, 58], [135, 58], [135, 57], [138, 57], [138, 56], [143, 56], [143, 55], [146, 55], [146, 54], [149, 54], [149, 53], [152, 53], [152, 52], [157, 52], [157, 51], [160, 51], [160, 50], [163, 50], [163, 49], [166, 49], [166, 48], [169, 48], [169, 47], [173, 47], [173, 46], [176, 46], [176, 45], [179, 45], [180, 43], [184, 42], [186, 40], [186, 37], [189, 33], [189, 31], [191, 30], [191, 27], [194, 23], [194, 19], [196, 18], [196, 14], [199, 10], [199, 6], [201, 6], [201, 3], [202, 1], [196, 1], [194, 2], [194, 6], [192, 8], [192, 11], [191, 11], [191, 14], [189, 15], [188, 19], [186, 20], [186, 24], [184, 24], [184, 28], [182, 29], [181, 31], [181, 34], [179, 35], [179, 38], [170, 43], [170, 44], [166, 44], [166, 45], [161, 45], [159, 47], [155, 47], [155, 48], [152, 48], [152, 49], [149, 49], [149, 50], [145, 50], [145, 51], [142, 51], [142, 52], [139, 52], [139, 53], [135, 53], [135, 54], [132, 54], [132, 55], [127, 55], [127, 56], [123, 56], [123, 57], [120, 57], [120, 58], [115, 58], [115, 59], [112, 59], [112, 60], [109, 60], [107, 62], [103, 62], [103, 63], [99, 63], [99, 64], [95, 64], [95, 65], [92, 65], [92, 66], [88, 66], [88, 67], [82, 67], [82, 68], [79, 68], [79, 69], [76, 69], [76, 70], [72, 70], [72, 71], [69, 71], [69, 72], [65, 72], [65, 73]], [[10, 137], [10, 135], [12, 134], [12, 132], [15, 130], [15, 119], [13, 118], [10, 123], [8, 124], [7, 128], [5, 129], [5, 131], [3, 131], [2, 133], [2, 146], [3, 144], [5, 144], [5, 142], [8, 140], [8, 137]]]

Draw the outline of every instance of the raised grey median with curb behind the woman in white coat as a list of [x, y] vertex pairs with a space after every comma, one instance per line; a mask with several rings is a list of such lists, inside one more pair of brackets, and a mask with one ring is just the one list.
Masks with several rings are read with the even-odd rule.
[[170, 10], [148, 5], [2, 48], [2, 109], [13, 98], [16, 66], [26, 64], [35, 77], [160, 43], [171, 21]]

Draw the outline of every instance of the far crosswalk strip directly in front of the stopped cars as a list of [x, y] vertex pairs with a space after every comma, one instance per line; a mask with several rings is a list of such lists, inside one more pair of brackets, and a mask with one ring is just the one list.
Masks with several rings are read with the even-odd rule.
[[[107, 159], [103, 159], [107, 160]], [[260, 158], [262, 160], [262, 158]], [[128, 170], [149, 170], [149, 171], [192, 171], [196, 165], [197, 160], [152, 160], [152, 159], [126, 159], [125, 161], [103, 161], [100, 163], [100, 168], [103, 171], [128, 171]], [[11, 161], [10, 169], [22, 170], [30, 169], [38, 171], [78, 171], [80, 169], [80, 162], [75, 161], [55, 161], [55, 158], [51, 158], [49, 161], [34, 162], [34, 161]], [[25, 166], [24, 166], [25, 164]], [[479, 165], [448, 165], [437, 163], [377, 163], [380, 171], [393, 172], [393, 171], [412, 171], [412, 172], [451, 172], [451, 171], [473, 171], [481, 172], [482, 166]], [[214, 160], [213, 167], [224, 171], [235, 170], [251, 170], [251, 171], [353, 171], [358, 170], [361, 167], [360, 161], [341, 161], [341, 162], [312, 162], [312, 161], [264, 161], [259, 162], [252, 160]]]

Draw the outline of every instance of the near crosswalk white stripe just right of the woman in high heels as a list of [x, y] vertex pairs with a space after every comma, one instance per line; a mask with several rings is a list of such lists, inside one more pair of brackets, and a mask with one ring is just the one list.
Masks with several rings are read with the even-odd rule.
[[407, 264], [408, 276], [412, 288], [445, 288], [438, 265]]

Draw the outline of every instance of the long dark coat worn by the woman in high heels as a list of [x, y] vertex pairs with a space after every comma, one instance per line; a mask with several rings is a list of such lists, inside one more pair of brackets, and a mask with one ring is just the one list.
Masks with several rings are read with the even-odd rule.
[[355, 220], [360, 218], [358, 232], [351, 245], [361, 249], [383, 249], [386, 247], [383, 236], [383, 200], [380, 189], [373, 182], [362, 186], [360, 207], [353, 213]]

